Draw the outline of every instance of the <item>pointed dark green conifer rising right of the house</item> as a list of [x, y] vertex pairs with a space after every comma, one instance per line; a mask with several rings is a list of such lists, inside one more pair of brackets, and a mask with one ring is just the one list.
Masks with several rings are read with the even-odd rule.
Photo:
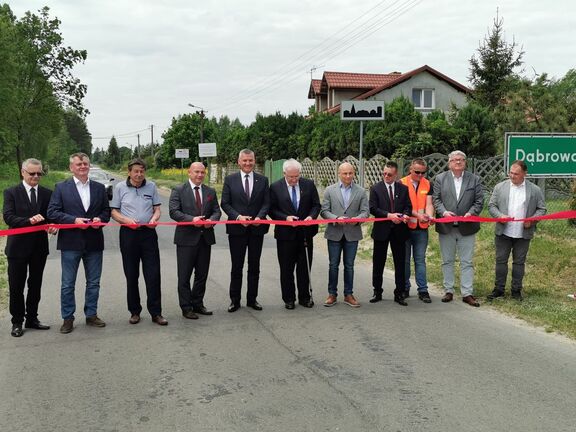
[[524, 51], [514, 39], [511, 43], [506, 42], [504, 19], [497, 15], [477, 56], [470, 59], [468, 79], [474, 86], [473, 98], [491, 109], [496, 108], [517, 82], [516, 70], [522, 66], [523, 55]]

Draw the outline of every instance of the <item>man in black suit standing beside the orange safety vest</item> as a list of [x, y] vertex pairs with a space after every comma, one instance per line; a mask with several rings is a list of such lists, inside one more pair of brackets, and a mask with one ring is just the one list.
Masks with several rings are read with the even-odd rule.
[[374, 253], [372, 254], [372, 286], [374, 296], [370, 303], [382, 300], [382, 273], [386, 265], [388, 244], [392, 248], [394, 259], [394, 301], [402, 306], [408, 306], [404, 296], [406, 286], [406, 240], [408, 227], [406, 220], [412, 214], [412, 204], [408, 188], [399, 181], [398, 164], [386, 162], [383, 181], [376, 183], [370, 190], [370, 213], [376, 218], [389, 218], [390, 221], [375, 222], [372, 228]]

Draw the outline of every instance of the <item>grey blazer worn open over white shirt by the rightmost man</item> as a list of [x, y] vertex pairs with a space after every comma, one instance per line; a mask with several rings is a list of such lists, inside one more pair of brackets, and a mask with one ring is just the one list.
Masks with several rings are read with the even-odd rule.
[[[526, 217], [543, 216], [546, 214], [546, 202], [544, 201], [544, 194], [542, 189], [534, 183], [525, 180], [526, 182], [526, 201], [524, 208], [526, 209]], [[498, 218], [508, 215], [508, 199], [510, 197], [510, 180], [504, 180], [498, 183], [492, 191], [490, 202], [488, 204], [488, 211], [490, 216]], [[494, 231], [496, 235], [502, 235], [506, 228], [505, 223], [496, 223]], [[536, 231], [536, 224], [533, 223], [530, 228], [524, 228], [522, 238], [531, 239], [534, 237]]]

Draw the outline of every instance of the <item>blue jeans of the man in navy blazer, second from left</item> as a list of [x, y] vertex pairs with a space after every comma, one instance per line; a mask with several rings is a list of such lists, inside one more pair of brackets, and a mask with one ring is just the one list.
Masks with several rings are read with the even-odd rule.
[[95, 316], [98, 309], [100, 294], [100, 275], [102, 274], [102, 251], [61, 251], [62, 287], [60, 290], [60, 308], [62, 319], [73, 319], [76, 312], [74, 288], [80, 260], [84, 263], [86, 275], [86, 293], [84, 299], [84, 314]]

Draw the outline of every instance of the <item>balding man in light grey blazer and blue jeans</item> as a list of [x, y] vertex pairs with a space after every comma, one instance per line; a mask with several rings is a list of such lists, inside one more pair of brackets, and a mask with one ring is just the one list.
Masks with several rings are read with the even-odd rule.
[[[368, 198], [364, 188], [353, 183], [354, 167], [344, 162], [338, 167], [340, 181], [326, 188], [321, 215], [324, 219], [360, 219], [369, 215]], [[354, 298], [354, 260], [358, 241], [362, 239], [359, 223], [336, 222], [326, 227], [328, 240], [328, 298], [324, 306], [334, 306], [338, 297], [340, 256], [344, 255], [344, 303], [359, 307]]]

